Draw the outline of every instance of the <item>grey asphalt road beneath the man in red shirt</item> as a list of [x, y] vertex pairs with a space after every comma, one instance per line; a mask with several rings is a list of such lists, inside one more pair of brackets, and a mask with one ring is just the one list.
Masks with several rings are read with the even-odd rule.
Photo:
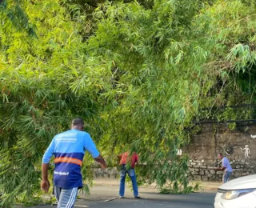
[[[126, 198], [118, 198], [118, 186], [94, 186], [90, 196], [79, 194], [75, 208], [213, 208], [215, 193], [158, 194], [152, 188], [140, 188], [140, 196], [133, 197], [130, 188], [126, 188]], [[30, 206], [30, 208], [53, 208], [50, 205]], [[19, 207], [17, 207], [19, 208]]]

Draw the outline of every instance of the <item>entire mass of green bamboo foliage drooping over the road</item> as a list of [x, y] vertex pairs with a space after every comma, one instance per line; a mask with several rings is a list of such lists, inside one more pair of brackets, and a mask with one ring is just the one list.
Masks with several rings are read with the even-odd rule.
[[[188, 158], [177, 156], [194, 134], [193, 120], [254, 118], [211, 111], [254, 102], [254, 1], [96, 5], [22, 2], [37, 38], [1, 10], [2, 204], [38, 196], [42, 154], [76, 116], [86, 120], [109, 164], [115, 154], [138, 151], [146, 164], [138, 167], [138, 179], [157, 182], [165, 193], [193, 189]], [[82, 171], [90, 178], [88, 159]]]

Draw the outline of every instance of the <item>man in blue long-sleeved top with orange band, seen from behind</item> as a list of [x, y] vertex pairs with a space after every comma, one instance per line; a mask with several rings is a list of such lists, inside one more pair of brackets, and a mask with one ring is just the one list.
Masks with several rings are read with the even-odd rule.
[[54, 195], [58, 201], [58, 208], [72, 208], [82, 187], [81, 166], [85, 151], [89, 151], [95, 161], [106, 168], [106, 162], [99, 154], [90, 134], [83, 131], [82, 118], [72, 121], [71, 130], [57, 134], [50, 142], [42, 158], [42, 184], [41, 189], [48, 191], [48, 168], [50, 158], [54, 155]]

